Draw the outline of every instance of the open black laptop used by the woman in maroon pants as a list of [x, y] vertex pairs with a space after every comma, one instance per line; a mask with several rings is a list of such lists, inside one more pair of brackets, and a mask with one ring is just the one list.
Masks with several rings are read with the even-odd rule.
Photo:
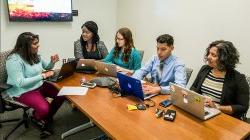
[[51, 82], [58, 82], [58, 81], [63, 80], [66, 77], [71, 76], [75, 72], [76, 63], [77, 63], [76, 60], [72, 60], [67, 63], [64, 63], [61, 69], [55, 70], [54, 75], [52, 77], [49, 77], [46, 80], [51, 81]]

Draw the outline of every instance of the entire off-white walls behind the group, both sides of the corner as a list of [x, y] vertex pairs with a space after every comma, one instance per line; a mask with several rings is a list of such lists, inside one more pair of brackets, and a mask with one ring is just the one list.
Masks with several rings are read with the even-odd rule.
[[87, 20], [99, 25], [101, 39], [111, 49], [117, 28], [127, 26], [137, 48], [144, 49], [143, 62], [156, 53], [156, 37], [174, 36], [174, 53], [194, 69], [191, 80], [203, 64], [204, 50], [211, 41], [232, 41], [241, 57], [239, 71], [250, 75], [250, 5], [249, 0], [72, 0], [79, 16], [73, 22], [9, 22], [5, 1], [1, 1], [1, 51], [12, 49], [17, 35], [31, 31], [40, 35], [40, 51], [49, 57], [73, 56], [73, 41]]

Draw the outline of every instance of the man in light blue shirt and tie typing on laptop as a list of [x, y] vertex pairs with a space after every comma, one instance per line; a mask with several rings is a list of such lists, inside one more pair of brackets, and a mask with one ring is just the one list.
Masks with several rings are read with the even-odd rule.
[[137, 70], [132, 77], [143, 79], [147, 74], [151, 75], [154, 85], [143, 85], [144, 93], [169, 93], [169, 83], [173, 82], [182, 86], [186, 85], [186, 71], [184, 63], [172, 55], [174, 39], [171, 35], [163, 34], [157, 39], [157, 56], [141, 69]]

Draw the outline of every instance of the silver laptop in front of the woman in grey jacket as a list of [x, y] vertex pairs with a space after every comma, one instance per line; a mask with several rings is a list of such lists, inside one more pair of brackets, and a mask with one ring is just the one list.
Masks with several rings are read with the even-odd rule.
[[95, 66], [96, 64], [94, 59], [80, 59], [76, 66], [76, 72], [96, 73], [97, 70]]

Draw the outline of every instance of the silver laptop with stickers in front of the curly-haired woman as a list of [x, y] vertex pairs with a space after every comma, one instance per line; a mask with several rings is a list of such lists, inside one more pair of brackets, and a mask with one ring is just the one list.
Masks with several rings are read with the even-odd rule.
[[220, 114], [220, 110], [204, 106], [205, 97], [203, 95], [179, 85], [170, 83], [170, 95], [173, 105], [202, 120], [207, 120]]

